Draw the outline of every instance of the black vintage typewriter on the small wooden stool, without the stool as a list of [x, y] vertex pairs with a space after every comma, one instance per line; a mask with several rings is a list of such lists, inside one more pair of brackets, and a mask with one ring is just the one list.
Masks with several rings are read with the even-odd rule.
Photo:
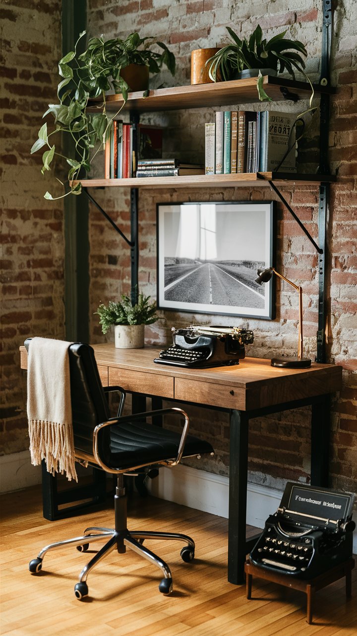
[[250, 553], [254, 565], [310, 579], [351, 558], [354, 495], [288, 482]]

